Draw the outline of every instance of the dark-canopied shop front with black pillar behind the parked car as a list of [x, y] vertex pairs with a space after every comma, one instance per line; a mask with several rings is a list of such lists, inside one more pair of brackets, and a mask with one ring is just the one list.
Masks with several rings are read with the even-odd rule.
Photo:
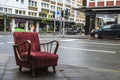
[[120, 24], [120, 7], [82, 7], [76, 10], [85, 13], [85, 35], [92, 29], [108, 24]]

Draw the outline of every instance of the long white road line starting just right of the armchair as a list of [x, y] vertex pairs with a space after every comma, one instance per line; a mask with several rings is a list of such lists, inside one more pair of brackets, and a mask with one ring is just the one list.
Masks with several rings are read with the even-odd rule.
[[65, 49], [83, 50], [83, 51], [93, 51], [93, 52], [104, 52], [104, 53], [116, 53], [115, 51], [105, 51], [105, 50], [93, 50], [93, 49], [82, 49], [82, 48], [72, 48], [72, 47], [59, 47]]

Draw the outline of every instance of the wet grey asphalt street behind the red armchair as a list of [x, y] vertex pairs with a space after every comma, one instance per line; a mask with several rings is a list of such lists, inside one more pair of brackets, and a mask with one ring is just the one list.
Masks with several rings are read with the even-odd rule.
[[[58, 40], [59, 64], [120, 70], [119, 40], [40, 38], [42, 42]], [[0, 35], [0, 55], [13, 56], [12, 35]]]

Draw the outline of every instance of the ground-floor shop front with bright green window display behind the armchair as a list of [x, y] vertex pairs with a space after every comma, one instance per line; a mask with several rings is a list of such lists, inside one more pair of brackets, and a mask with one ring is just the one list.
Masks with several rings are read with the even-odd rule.
[[39, 32], [41, 18], [7, 14], [5, 20], [4, 14], [0, 13], [0, 16], [0, 31]]

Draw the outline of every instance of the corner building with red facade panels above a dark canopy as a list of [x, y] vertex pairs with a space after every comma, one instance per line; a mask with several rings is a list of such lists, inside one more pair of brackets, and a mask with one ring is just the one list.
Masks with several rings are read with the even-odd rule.
[[85, 34], [107, 24], [120, 24], [120, 0], [83, 0], [83, 7], [77, 9], [85, 13]]

